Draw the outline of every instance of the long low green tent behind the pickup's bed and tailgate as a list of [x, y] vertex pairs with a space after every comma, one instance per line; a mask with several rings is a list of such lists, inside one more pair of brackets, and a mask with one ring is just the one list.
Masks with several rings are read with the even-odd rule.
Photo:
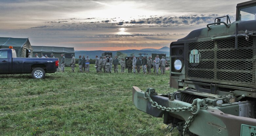
[[40, 58], [41, 55], [47, 55], [49, 58], [51, 58], [51, 54], [55, 58], [59, 58], [59, 65], [61, 64], [61, 54], [64, 54], [66, 58], [65, 65], [70, 66], [71, 63], [71, 55], [73, 54], [75, 56], [75, 50], [74, 47], [55, 47], [55, 46], [32, 46], [33, 48], [33, 56], [35, 57], [35, 53], [38, 54], [38, 57]]

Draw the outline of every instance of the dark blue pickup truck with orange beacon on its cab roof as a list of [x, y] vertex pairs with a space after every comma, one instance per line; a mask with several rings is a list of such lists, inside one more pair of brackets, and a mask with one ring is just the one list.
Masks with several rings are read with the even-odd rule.
[[45, 73], [60, 71], [58, 58], [16, 58], [16, 51], [0, 49], [0, 74], [32, 74], [35, 79], [45, 77]]

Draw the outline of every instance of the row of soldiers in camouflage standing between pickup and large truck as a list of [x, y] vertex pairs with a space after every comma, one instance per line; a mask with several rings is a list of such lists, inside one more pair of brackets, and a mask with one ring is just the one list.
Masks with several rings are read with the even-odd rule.
[[[65, 57], [63, 54], [61, 54], [61, 70], [62, 72], [64, 72], [64, 67], [65, 67]], [[75, 57], [72, 54], [71, 55], [72, 59], [71, 59], [71, 69], [73, 72], [75, 72]], [[120, 63], [121, 66], [121, 73], [124, 73], [124, 69], [125, 69], [125, 60], [124, 58], [122, 58], [119, 62], [119, 59], [117, 58], [117, 56], [115, 56], [115, 58], [111, 58], [111, 55], [106, 55], [106, 56], [100, 56], [98, 58], [98, 56], [95, 56], [95, 68], [96, 68], [96, 73], [112, 73], [112, 65], [114, 65], [114, 72], [118, 73], [118, 64]], [[151, 73], [151, 65], [153, 64], [153, 68], [154, 68], [154, 73], [156, 72], [156, 74], [158, 74], [159, 71], [159, 67], [161, 70], [162, 74], [165, 74], [165, 65], [166, 65], [166, 60], [164, 59], [164, 57], [162, 57], [162, 59], [159, 59], [159, 56], [157, 55], [157, 57], [154, 59], [154, 61], [151, 59], [151, 57], [149, 57], [148, 59], [146, 59], [146, 57], [144, 56], [143, 59], [141, 60], [139, 57], [136, 59], [135, 56], [133, 55], [132, 57], [129, 57], [129, 59], [127, 60], [127, 68], [128, 68], [128, 73], [136, 73], [136, 69], [137, 69], [137, 73], [140, 73], [140, 69], [142, 67], [142, 71], [143, 74], [150, 74]], [[78, 66], [79, 66], [79, 71], [80, 72], [85, 72], [85, 73], [89, 73], [90, 71], [90, 58], [89, 56], [85, 56], [83, 55], [83, 57], [81, 57], [81, 55], [79, 55], [79, 59], [78, 59]], [[102, 71], [103, 68], [103, 71]]]

